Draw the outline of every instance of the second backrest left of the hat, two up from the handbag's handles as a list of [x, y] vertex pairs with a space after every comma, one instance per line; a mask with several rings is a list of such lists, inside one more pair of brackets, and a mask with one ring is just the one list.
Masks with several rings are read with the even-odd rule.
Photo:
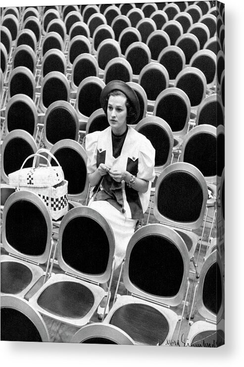
[[55, 101], [69, 101], [69, 82], [60, 71], [51, 71], [44, 78], [41, 87], [40, 107], [46, 111]]

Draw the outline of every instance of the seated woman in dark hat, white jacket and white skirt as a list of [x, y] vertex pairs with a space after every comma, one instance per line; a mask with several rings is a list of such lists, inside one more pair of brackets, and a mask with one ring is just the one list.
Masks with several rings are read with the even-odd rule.
[[144, 135], [127, 125], [140, 114], [131, 87], [120, 80], [109, 82], [100, 103], [109, 127], [86, 136], [87, 170], [93, 187], [89, 206], [98, 210], [113, 230], [117, 268], [148, 207], [155, 150]]

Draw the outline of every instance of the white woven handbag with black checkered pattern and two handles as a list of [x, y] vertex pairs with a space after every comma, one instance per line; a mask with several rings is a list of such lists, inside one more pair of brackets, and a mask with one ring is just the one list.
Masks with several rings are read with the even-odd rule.
[[[41, 153], [51, 157], [57, 166], [51, 166], [49, 159]], [[32, 157], [34, 157], [32, 167], [23, 168]], [[36, 167], [38, 157], [45, 159], [48, 166]], [[62, 167], [49, 150], [42, 148], [31, 154], [25, 159], [20, 170], [10, 173], [8, 179], [16, 191], [26, 190], [38, 194], [48, 206], [52, 219], [58, 220], [68, 212], [68, 182], [64, 180]]]

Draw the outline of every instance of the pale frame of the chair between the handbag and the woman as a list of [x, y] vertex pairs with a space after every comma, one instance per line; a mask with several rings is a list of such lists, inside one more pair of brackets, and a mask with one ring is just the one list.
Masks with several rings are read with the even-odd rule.
[[[57, 141], [54, 145], [52, 145], [50, 152], [55, 155], [55, 153], [62, 148], [70, 148], [73, 149], [76, 153], [80, 154], [83, 158], [83, 161], [85, 164], [87, 164], [87, 154], [85, 149], [78, 143], [78, 141], [71, 140], [71, 139], [63, 139]], [[87, 199], [89, 193], [89, 178], [88, 175], [86, 177], [86, 183], [84, 190], [78, 194], [69, 194], [68, 193], [68, 199], [73, 201], [83, 201], [84, 199]]]

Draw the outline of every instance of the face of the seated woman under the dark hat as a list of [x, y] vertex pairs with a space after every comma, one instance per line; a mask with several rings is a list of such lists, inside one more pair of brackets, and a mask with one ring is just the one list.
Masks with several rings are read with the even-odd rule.
[[126, 97], [110, 96], [107, 104], [107, 119], [115, 135], [122, 135], [126, 131]]

